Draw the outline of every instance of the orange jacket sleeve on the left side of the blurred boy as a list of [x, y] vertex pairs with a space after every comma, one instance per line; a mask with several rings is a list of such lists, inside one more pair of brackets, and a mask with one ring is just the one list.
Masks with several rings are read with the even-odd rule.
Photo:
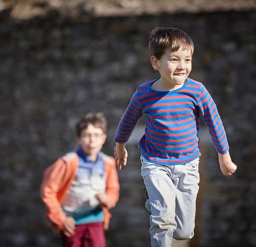
[[66, 169], [67, 164], [64, 159], [58, 159], [44, 172], [41, 184], [41, 198], [46, 206], [46, 218], [52, 223], [52, 230], [54, 231], [62, 230], [67, 218], [58, 199], [58, 192], [61, 183], [63, 183]]

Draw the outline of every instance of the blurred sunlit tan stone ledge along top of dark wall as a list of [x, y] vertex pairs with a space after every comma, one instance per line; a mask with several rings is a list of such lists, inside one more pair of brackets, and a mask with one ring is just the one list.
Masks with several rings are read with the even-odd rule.
[[61, 17], [138, 16], [161, 13], [252, 11], [256, 0], [0, 0], [0, 12], [9, 10], [11, 19], [30, 20], [57, 11]]

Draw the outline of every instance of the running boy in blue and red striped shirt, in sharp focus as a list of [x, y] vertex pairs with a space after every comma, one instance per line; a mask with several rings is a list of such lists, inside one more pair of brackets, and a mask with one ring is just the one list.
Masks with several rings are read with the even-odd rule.
[[175, 28], [152, 30], [151, 64], [160, 78], [138, 86], [122, 116], [114, 140], [119, 169], [126, 165], [125, 143], [145, 114], [140, 139], [141, 174], [149, 199], [152, 247], [170, 247], [172, 238], [192, 238], [198, 193], [199, 115], [206, 123], [218, 152], [222, 173], [236, 171], [226, 134], [214, 101], [205, 86], [189, 78], [194, 46]]

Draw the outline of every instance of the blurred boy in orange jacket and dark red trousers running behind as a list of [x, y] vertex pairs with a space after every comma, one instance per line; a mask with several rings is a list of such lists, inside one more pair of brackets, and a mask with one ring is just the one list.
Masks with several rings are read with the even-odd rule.
[[41, 198], [52, 230], [64, 247], [105, 247], [104, 229], [119, 198], [114, 158], [101, 151], [107, 138], [102, 113], [88, 113], [76, 125], [79, 149], [44, 172]]

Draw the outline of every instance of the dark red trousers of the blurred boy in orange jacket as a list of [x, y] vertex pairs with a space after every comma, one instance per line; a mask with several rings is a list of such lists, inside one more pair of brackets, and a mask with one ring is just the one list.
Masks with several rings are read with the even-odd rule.
[[64, 247], [106, 247], [103, 222], [76, 226], [75, 235], [67, 237], [62, 233]]

